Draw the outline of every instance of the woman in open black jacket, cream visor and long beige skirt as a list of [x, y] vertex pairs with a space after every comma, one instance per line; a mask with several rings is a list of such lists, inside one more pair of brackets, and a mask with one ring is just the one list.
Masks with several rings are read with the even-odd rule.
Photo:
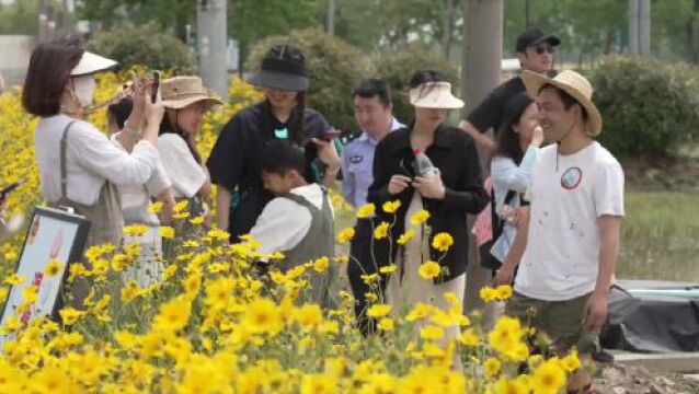
[[[389, 134], [375, 154], [375, 181], [368, 195], [369, 201], [377, 206], [375, 227], [396, 219], [390, 241], [374, 241], [375, 257], [379, 264], [397, 265], [387, 290], [393, 310], [411, 308], [419, 301], [449, 308], [445, 292], [452, 292], [460, 308], [468, 255], [466, 215], [480, 212], [488, 204], [488, 194], [473, 139], [444, 124], [449, 109], [463, 106], [462, 101], [451, 95], [451, 84], [438, 72], [425, 70], [413, 74], [410, 86], [415, 120]], [[421, 176], [424, 165], [416, 164], [420, 154], [416, 152], [424, 152], [437, 169], [434, 176]], [[385, 202], [393, 200], [401, 201], [396, 218], [381, 209]], [[429, 218], [415, 224], [411, 218], [422, 209], [429, 212]], [[403, 236], [399, 245], [401, 235], [413, 232], [410, 241], [404, 242], [408, 236]], [[446, 253], [432, 245], [439, 233], [448, 233], [454, 240]], [[419, 274], [428, 260], [438, 263], [439, 274], [433, 269], [431, 276], [424, 268]], [[429, 266], [434, 268], [434, 264], [423, 267]], [[458, 333], [458, 327], [454, 328]]]

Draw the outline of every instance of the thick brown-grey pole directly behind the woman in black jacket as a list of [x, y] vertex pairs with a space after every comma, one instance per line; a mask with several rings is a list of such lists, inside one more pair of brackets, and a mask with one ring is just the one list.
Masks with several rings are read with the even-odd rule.
[[[503, 0], [462, 0], [466, 14], [463, 24], [463, 50], [461, 59], [461, 97], [466, 102], [465, 114], [480, 103], [493, 90], [501, 78], [503, 55]], [[481, 169], [485, 167], [485, 154], [479, 149]], [[473, 217], [469, 217], [469, 229]], [[470, 235], [470, 232], [469, 232]], [[475, 239], [469, 237], [469, 267], [466, 274], [465, 311], [484, 310], [480, 289], [490, 285], [492, 273], [481, 267]], [[489, 310], [490, 311], [490, 310]], [[486, 323], [492, 315], [486, 313]]]

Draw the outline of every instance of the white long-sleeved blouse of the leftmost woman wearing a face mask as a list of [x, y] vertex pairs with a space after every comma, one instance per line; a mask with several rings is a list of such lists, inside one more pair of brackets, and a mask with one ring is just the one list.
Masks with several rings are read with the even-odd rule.
[[[72, 120], [62, 114], [42, 117], [34, 130], [42, 197], [50, 202], [60, 199], [60, 139]], [[158, 150], [148, 141], [138, 142], [129, 154], [91, 124], [77, 120], [68, 131], [66, 150], [68, 198], [92, 206], [105, 179], [117, 186], [142, 185], [157, 160]]]

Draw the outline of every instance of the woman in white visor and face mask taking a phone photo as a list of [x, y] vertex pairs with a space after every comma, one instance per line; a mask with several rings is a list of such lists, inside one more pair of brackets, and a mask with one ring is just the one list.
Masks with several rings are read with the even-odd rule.
[[[93, 74], [114, 66], [76, 40], [42, 43], [32, 53], [22, 93], [24, 108], [41, 117], [34, 143], [42, 196], [90, 220], [88, 246], [118, 244], [124, 220], [115, 186], [146, 183], [158, 159], [160, 100], [156, 104], [141, 100], [144, 107], [131, 113], [134, 129], [122, 137], [125, 144], [134, 146], [130, 154], [83, 120], [96, 84]], [[137, 82], [134, 94], [145, 96], [147, 90]], [[89, 289], [87, 281], [73, 283], [73, 305], [82, 305]]]

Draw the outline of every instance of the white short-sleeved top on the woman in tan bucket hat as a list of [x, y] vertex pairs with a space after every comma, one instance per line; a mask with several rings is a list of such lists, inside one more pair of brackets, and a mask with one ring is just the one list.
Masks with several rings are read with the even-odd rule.
[[172, 182], [174, 197], [194, 197], [208, 175], [194, 160], [187, 142], [174, 132], [158, 137], [158, 152]]

